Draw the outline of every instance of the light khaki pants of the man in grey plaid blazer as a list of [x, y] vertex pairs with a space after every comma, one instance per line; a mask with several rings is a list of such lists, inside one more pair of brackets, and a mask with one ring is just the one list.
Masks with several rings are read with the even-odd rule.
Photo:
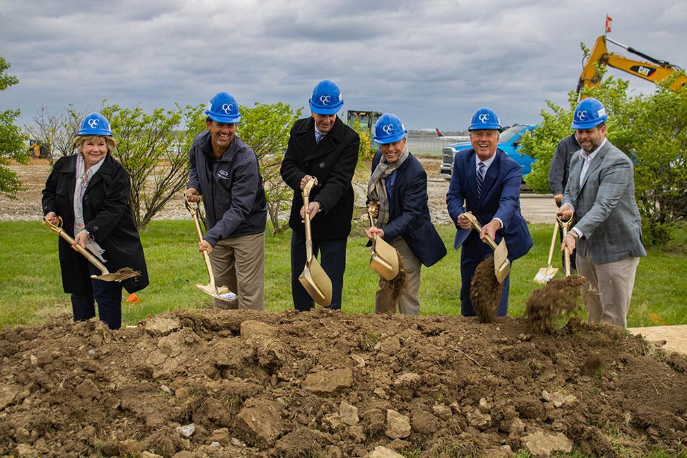
[[594, 264], [588, 257], [577, 255], [577, 273], [587, 277], [600, 293], [585, 291], [582, 297], [589, 313], [589, 323], [611, 323], [627, 328], [627, 312], [635, 286], [639, 257]]

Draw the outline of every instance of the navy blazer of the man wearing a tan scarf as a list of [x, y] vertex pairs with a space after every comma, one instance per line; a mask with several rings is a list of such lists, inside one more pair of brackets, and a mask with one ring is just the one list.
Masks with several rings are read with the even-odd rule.
[[[381, 157], [378, 150], [372, 159], [372, 172]], [[427, 173], [420, 161], [409, 154], [408, 159], [396, 169], [389, 222], [380, 229], [384, 231], [386, 242], [403, 237], [410, 251], [429, 267], [446, 255], [446, 247], [431, 223], [427, 201]]]

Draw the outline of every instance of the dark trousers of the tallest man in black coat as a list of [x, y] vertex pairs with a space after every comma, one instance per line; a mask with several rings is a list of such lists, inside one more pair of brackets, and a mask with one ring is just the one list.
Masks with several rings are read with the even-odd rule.
[[[346, 270], [347, 238], [336, 240], [317, 240], [313, 238], [313, 256], [321, 252], [319, 264], [332, 280], [332, 305], [330, 308], [341, 309], [341, 291], [343, 290], [343, 272]], [[293, 307], [305, 312], [315, 307], [315, 301], [303, 288], [298, 277], [306, 262], [305, 233], [291, 231], [291, 295]]]

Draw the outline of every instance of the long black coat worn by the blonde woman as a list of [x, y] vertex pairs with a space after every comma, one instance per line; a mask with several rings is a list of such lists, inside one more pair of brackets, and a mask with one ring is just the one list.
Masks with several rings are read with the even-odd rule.
[[[61, 157], [47, 177], [43, 190], [43, 215], [54, 211], [63, 219], [63, 229], [74, 238], [74, 190], [76, 188], [76, 154]], [[105, 250], [102, 257], [107, 270], [123, 267], [139, 271], [139, 277], [124, 280], [129, 293], [148, 286], [148, 268], [141, 239], [129, 206], [129, 180], [124, 167], [110, 154], [89, 181], [83, 198], [86, 230]], [[80, 253], [59, 238], [60, 267], [65, 293], [85, 295], [77, 256]]]

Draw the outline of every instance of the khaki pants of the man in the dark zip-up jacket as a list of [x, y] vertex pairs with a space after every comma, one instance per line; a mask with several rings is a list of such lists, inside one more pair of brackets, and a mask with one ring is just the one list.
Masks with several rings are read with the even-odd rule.
[[215, 299], [215, 308], [263, 310], [264, 232], [220, 240], [212, 250], [210, 263], [215, 284], [227, 286], [238, 295], [238, 306]]

